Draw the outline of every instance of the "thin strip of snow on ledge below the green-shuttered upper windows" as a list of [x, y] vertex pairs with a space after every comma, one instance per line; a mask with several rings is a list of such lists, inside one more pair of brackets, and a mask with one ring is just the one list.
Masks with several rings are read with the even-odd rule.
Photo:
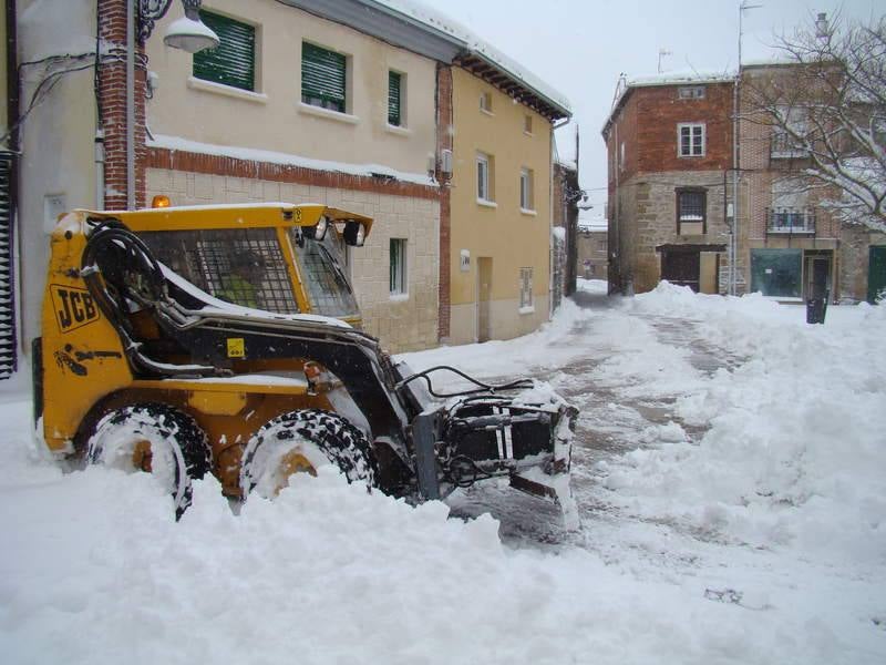
[[302, 168], [313, 168], [317, 171], [334, 171], [349, 175], [361, 175], [365, 177], [385, 176], [405, 183], [418, 185], [437, 186], [437, 184], [425, 173], [408, 173], [396, 171], [383, 164], [348, 164], [346, 162], [330, 162], [328, 160], [313, 160], [289, 153], [274, 152], [269, 150], [258, 150], [254, 147], [239, 147], [236, 145], [216, 145], [212, 143], [200, 143], [181, 136], [168, 136], [165, 134], [154, 134], [145, 143], [151, 147], [164, 147], [167, 150], [181, 150], [195, 152], [206, 155], [217, 155], [233, 157], [235, 160], [247, 160], [253, 162], [267, 162], [270, 164], [284, 164], [287, 166], [300, 166]]

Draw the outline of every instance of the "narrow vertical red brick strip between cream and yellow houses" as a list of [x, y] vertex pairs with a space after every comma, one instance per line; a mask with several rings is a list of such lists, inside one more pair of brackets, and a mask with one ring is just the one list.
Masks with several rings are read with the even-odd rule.
[[[437, 64], [436, 68], [436, 154], [443, 150], [452, 150], [452, 68]], [[451, 205], [450, 178], [452, 174], [444, 174], [437, 163], [436, 178], [440, 187], [440, 296], [437, 335], [441, 339], [450, 336], [451, 311]]]

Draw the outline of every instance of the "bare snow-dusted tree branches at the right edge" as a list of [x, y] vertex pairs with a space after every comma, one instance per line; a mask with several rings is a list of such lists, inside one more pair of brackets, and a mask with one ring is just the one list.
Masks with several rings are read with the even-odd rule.
[[743, 86], [743, 116], [771, 125], [799, 186], [847, 224], [886, 232], [886, 19], [782, 37], [777, 73]]

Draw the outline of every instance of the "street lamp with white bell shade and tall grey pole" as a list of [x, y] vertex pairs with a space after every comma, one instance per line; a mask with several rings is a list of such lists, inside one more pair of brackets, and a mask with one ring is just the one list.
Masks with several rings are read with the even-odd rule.
[[[166, 16], [173, 0], [126, 0], [126, 207], [135, 208], [135, 49], [136, 31], [144, 44], [154, 24]], [[219, 44], [218, 35], [200, 21], [200, 0], [182, 0], [185, 16], [174, 21], [164, 43], [196, 53]], [[137, 11], [136, 11], [137, 10]]]

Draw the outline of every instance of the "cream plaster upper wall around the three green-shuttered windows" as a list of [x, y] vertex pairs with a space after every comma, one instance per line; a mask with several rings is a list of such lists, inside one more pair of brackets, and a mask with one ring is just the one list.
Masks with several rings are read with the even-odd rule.
[[[247, 7], [248, 6], [248, 7]], [[423, 175], [436, 146], [436, 63], [276, 0], [205, 0], [203, 8], [256, 25], [256, 91], [192, 76], [189, 53], [161, 37], [181, 18], [175, 2], [147, 43], [158, 89], [147, 104], [154, 134]], [[348, 55], [347, 113], [301, 103], [301, 43]], [[405, 127], [388, 126], [388, 72], [405, 74]], [[231, 119], [237, 122], [231, 122]]]

